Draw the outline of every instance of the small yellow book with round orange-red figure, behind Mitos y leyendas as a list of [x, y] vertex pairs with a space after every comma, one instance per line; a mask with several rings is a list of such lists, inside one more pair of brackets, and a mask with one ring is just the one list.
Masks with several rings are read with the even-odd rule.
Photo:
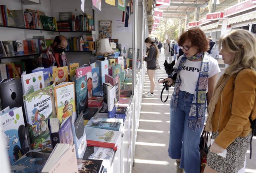
[[55, 85], [68, 81], [68, 66], [52, 69]]

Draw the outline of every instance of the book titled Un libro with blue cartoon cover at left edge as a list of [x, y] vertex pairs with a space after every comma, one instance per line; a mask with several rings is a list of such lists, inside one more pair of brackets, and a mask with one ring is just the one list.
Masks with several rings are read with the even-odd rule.
[[0, 142], [6, 147], [12, 164], [28, 152], [22, 107], [12, 108], [0, 114], [0, 125], [2, 126], [0, 133], [4, 139]]

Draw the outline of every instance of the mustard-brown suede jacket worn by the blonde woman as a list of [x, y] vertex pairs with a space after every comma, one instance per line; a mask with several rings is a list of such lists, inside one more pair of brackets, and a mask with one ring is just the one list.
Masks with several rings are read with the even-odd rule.
[[227, 148], [237, 137], [251, 132], [250, 120], [256, 118], [256, 72], [244, 69], [228, 79], [212, 116], [212, 130], [219, 130], [216, 144]]

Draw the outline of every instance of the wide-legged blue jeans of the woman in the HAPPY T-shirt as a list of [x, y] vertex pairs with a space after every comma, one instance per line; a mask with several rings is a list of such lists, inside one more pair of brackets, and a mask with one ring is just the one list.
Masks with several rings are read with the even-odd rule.
[[[194, 94], [180, 91], [176, 111], [170, 109], [169, 157], [180, 159], [186, 173], [200, 173], [199, 142], [202, 128], [188, 130], [188, 115]], [[204, 122], [204, 120], [203, 120]]]

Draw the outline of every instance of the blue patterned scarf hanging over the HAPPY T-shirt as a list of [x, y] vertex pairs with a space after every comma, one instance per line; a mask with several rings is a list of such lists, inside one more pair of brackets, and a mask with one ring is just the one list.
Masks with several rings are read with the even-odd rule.
[[[202, 55], [202, 54], [201, 54]], [[200, 54], [198, 56], [201, 57]], [[191, 57], [192, 58], [192, 57]], [[204, 53], [202, 57], [201, 68], [199, 72], [198, 81], [196, 84], [196, 90], [194, 92], [193, 101], [190, 107], [189, 118], [188, 118], [188, 128], [189, 130], [196, 131], [198, 128], [202, 128], [203, 120], [205, 116], [206, 109], [206, 89], [208, 85], [208, 76], [209, 76], [209, 58], [208, 53]], [[180, 60], [179, 67], [177, 69], [177, 79], [175, 81], [176, 85], [171, 99], [171, 108], [176, 111], [179, 92], [180, 92], [180, 71], [184, 66], [187, 57], [182, 57]]]

